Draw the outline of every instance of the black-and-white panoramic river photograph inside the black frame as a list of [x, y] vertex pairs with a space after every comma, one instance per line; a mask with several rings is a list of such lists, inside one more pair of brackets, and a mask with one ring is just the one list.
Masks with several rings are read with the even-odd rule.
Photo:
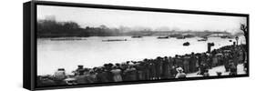
[[245, 16], [36, 6], [36, 86], [248, 73]]

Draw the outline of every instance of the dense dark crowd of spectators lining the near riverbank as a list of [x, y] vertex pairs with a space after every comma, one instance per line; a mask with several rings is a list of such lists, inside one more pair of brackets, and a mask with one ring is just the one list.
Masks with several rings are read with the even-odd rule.
[[[184, 78], [188, 73], [210, 76], [209, 69], [225, 66], [230, 75], [237, 75], [238, 64], [246, 63], [247, 53], [244, 45], [227, 45], [214, 49], [210, 53], [191, 53], [184, 56], [158, 56], [155, 59], [127, 61], [125, 63], [104, 64], [104, 66], [86, 68], [77, 66], [66, 75], [64, 68], [59, 68], [53, 76], [37, 76], [37, 86], [61, 86], [92, 83], [127, 82]], [[244, 65], [246, 68], [246, 64]], [[221, 72], [216, 72], [221, 76]]]

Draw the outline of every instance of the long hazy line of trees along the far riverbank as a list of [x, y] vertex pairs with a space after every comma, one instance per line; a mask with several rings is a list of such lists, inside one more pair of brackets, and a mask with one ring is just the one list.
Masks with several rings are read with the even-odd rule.
[[[97, 27], [87, 26], [81, 27], [76, 22], [58, 22], [56, 20], [37, 20], [37, 32], [36, 35], [39, 38], [42, 37], [87, 37], [87, 36], [122, 36], [122, 35], [170, 35], [170, 34], [194, 34], [196, 36], [201, 36], [199, 34], [206, 34], [207, 31], [203, 32], [191, 32], [191, 31], [153, 31], [150, 28], [130, 28], [130, 27], [119, 27], [110, 28], [106, 25], [99, 25]], [[246, 25], [241, 25], [241, 30], [243, 32], [247, 30]], [[245, 33], [244, 34], [248, 34]], [[223, 32], [225, 33], [225, 32]], [[247, 37], [246, 37], [247, 38]]]

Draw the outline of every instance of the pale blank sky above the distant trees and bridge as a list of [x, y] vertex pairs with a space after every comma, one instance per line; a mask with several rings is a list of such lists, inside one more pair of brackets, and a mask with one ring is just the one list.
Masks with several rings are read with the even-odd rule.
[[70, 6], [37, 5], [37, 19], [55, 17], [56, 21], [73, 21], [82, 27], [107, 25], [108, 27], [169, 27], [196, 31], [241, 31], [240, 24], [246, 24], [246, 17], [224, 15], [193, 15], [180, 13], [159, 13], [117, 9], [99, 9]]

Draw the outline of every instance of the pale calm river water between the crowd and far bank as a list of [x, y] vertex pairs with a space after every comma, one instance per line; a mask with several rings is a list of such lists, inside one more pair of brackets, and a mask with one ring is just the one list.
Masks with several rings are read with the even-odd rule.
[[[37, 75], [52, 75], [57, 68], [65, 68], [67, 73], [78, 65], [85, 67], [103, 66], [105, 63], [138, 61], [157, 56], [184, 55], [191, 52], [207, 51], [207, 43], [213, 42], [212, 49], [232, 45], [235, 39], [210, 37], [199, 42], [200, 37], [186, 39], [157, 39], [157, 36], [131, 38], [130, 36], [91, 36], [82, 40], [37, 39]], [[108, 39], [127, 39], [127, 41], [103, 42]], [[183, 43], [189, 42], [189, 46]], [[245, 43], [241, 37], [239, 44]]]

